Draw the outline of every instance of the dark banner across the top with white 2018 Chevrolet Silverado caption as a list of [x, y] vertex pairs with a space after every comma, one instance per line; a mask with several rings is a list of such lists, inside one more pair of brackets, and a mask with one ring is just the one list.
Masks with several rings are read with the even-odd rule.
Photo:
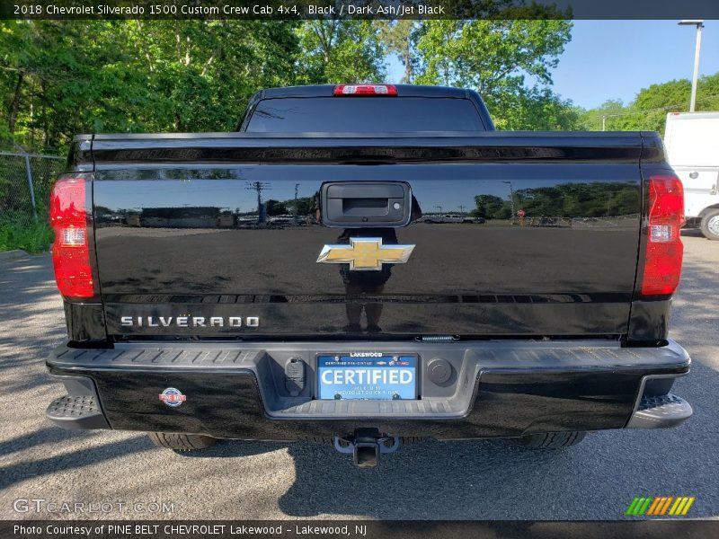
[[719, 19], [719, 0], [2, 0], [0, 19]]

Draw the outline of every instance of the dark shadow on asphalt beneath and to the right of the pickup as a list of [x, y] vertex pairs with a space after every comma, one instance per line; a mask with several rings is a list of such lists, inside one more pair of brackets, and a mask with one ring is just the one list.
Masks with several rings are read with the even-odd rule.
[[[719, 466], [719, 455], [707, 451], [715, 444], [710, 426], [719, 375], [701, 359], [691, 378], [675, 385], [694, 407], [687, 424], [590, 433], [564, 451], [499, 439], [426, 441], [401, 446], [383, 455], [378, 468], [361, 470], [329, 444], [221, 440], [178, 457], [226, 458], [231, 465], [236, 457], [286, 450], [294, 481], [277, 504], [288, 517], [607, 519], [623, 517], [637, 493], [677, 492], [697, 496], [695, 517], [710, 517], [719, 499], [708, 472]], [[244, 496], [239, 489], [230, 494], [238, 507]]]

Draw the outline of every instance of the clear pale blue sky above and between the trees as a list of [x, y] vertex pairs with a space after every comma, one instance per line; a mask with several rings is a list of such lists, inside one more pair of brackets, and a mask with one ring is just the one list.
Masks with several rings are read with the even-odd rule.
[[[690, 79], [696, 33], [696, 27], [676, 21], [575, 21], [572, 41], [553, 75], [555, 92], [591, 109], [608, 99], [630, 102], [650, 84]], [[719, 21], [707, 21], [699, 74], [717, 71]], [[390, 58], [388, 82], [403, 73], [396, 58]]]

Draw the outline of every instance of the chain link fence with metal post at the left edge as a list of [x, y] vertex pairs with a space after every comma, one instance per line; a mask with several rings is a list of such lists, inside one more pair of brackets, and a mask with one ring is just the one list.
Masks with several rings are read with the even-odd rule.
[[57, 155], [0, 152], [0, 223], [47, 220], [52, 183], [64, 166]]

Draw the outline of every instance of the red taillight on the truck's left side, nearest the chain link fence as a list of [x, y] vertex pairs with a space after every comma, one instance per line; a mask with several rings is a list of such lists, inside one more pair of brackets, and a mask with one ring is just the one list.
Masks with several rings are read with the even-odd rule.
[[85, 180], [61, 176], [50, 196], [50, 225], [55, 231], [52, 263], [62, 296], [95, 295], [86, 210]]

